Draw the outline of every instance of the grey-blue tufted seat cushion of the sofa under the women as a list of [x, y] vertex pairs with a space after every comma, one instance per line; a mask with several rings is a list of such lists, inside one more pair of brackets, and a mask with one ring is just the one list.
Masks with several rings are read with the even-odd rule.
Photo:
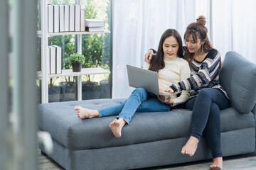
[[[54, 140], [70, 150], [169, 140], [188, 137], [191, 132], [191, 111], [136, 113], [130, 125], [124, 126], [120, 138], [114, 137], [109, 128], [109, 124], [115, 116], [81, 120], [74, 111], [75, 106], [97, 109], [120, 101], [124, 101], [124, 99], [44, 103], [38, 106], [39, 128], [50, 132]], [[240, 114], [233, 108], [221, 111], [223, 131], [255, 127], [253, 120], [252, 113]]]

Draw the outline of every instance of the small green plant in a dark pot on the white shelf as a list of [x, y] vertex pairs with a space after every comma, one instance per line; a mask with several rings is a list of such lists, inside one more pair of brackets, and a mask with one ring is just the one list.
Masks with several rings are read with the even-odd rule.
[[71, 63], [73, 72], [81, 72], [82, 64], [85, 62], [85, 56], [78, 52], [68, 57], [68, 62]]

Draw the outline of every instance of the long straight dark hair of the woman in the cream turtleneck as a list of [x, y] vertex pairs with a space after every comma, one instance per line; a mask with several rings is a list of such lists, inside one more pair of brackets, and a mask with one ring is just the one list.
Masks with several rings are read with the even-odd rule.
[[158, 72], [159, 69], [164, 69], [165, 64], [164, 64], [163, 45], [164, 45], [164, 41], [166, 40], [166, 38], [169, 38], [171, 36], [174, 36], [174, 38], [178, 42], [177, 56], [183, 58], [183, 49], [182, 49], [181, 35], [175, 29], [168, 29], [168, 30], [164, 31], [163, 35], [161, 35], [161, 39], [159, 41], [158, 50], [156, 52], [156, 55], [154, 55], [151, 58], [150, 65], [149, 65], [149, 70], [154, 71], [154, 72]]

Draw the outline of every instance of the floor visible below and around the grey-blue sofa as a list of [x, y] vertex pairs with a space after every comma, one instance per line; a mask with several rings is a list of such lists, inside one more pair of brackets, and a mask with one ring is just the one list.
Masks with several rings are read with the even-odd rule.
[[[172, 166], [159, 166], [153, 168], [146, 168], [149, 170], [208, 170], [211, 160], [192, 162], [187, 164], [176, 164]], [[63, 170], [57, 163], [38, 152], [38, 169], [39, 170]], [[143, 169], [143, 170], [146, 170]], [[233, 157], [224, 157], [223, 170], [256, 170], [256, 153], [242, 154]]]

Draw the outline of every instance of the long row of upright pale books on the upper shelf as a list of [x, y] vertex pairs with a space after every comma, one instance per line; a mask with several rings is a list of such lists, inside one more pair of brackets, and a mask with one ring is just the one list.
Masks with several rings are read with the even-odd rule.
[[48, 5], [48, 33], [85, 31], [85, 10], [78, 4]]

